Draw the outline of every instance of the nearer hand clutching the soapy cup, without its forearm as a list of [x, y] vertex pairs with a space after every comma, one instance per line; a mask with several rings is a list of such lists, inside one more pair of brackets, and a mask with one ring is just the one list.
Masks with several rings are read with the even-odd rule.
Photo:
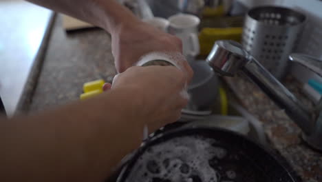
[[185, 84], [186, 76], [173, 66], [135, 66], [118, 74], [111, 90], [126, 90], [135, 100], [127, 113], [129, 118], [142, 128], [147, 125], [153, 132], [180, 118], [182, 108], [188, 103], [180, 94]]

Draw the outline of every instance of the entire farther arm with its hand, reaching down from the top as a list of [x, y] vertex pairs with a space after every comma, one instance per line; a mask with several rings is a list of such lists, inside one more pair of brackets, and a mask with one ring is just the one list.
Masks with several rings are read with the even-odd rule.
[[[178, 37], [140, 21], [116, 0], [28, 0], [58, 12], [69, 14], [111, 34], [112, 53], [118, 72], [124, 72], [150, 52], [182, 52]], [[188, 80], [192, 77], [189, 64], [180, 58]]]

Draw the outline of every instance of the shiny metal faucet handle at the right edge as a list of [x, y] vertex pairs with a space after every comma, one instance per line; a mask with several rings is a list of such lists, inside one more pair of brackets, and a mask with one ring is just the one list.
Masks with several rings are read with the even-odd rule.
[[322, 77], [322, 60], [316, 59], [315, 57], [311, 57], [307, 54], [299, 53], [292, 53], [289, 58], [291, 61], [300, 63]]

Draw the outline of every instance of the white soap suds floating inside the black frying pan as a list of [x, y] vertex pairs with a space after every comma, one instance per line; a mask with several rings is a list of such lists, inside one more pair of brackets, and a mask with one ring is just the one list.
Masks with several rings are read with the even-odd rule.
[[[202, 136], [182, 136], [153, 145], [133, 165], [127, 182], [217, 182], [219, 172], [209, 161], [223, 159], [227, 151], [213, 143], [214, 139]], [[232, 170], [226, 175], [236, 176]]]

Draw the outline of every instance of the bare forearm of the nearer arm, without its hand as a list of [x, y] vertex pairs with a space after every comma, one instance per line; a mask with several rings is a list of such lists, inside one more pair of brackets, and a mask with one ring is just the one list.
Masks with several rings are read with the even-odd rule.
[[111, 90], [1, 122], [0, 181], [102, 181], [142, 139], [142, 125], [128, 109], [136, 104], [127, 95]]

